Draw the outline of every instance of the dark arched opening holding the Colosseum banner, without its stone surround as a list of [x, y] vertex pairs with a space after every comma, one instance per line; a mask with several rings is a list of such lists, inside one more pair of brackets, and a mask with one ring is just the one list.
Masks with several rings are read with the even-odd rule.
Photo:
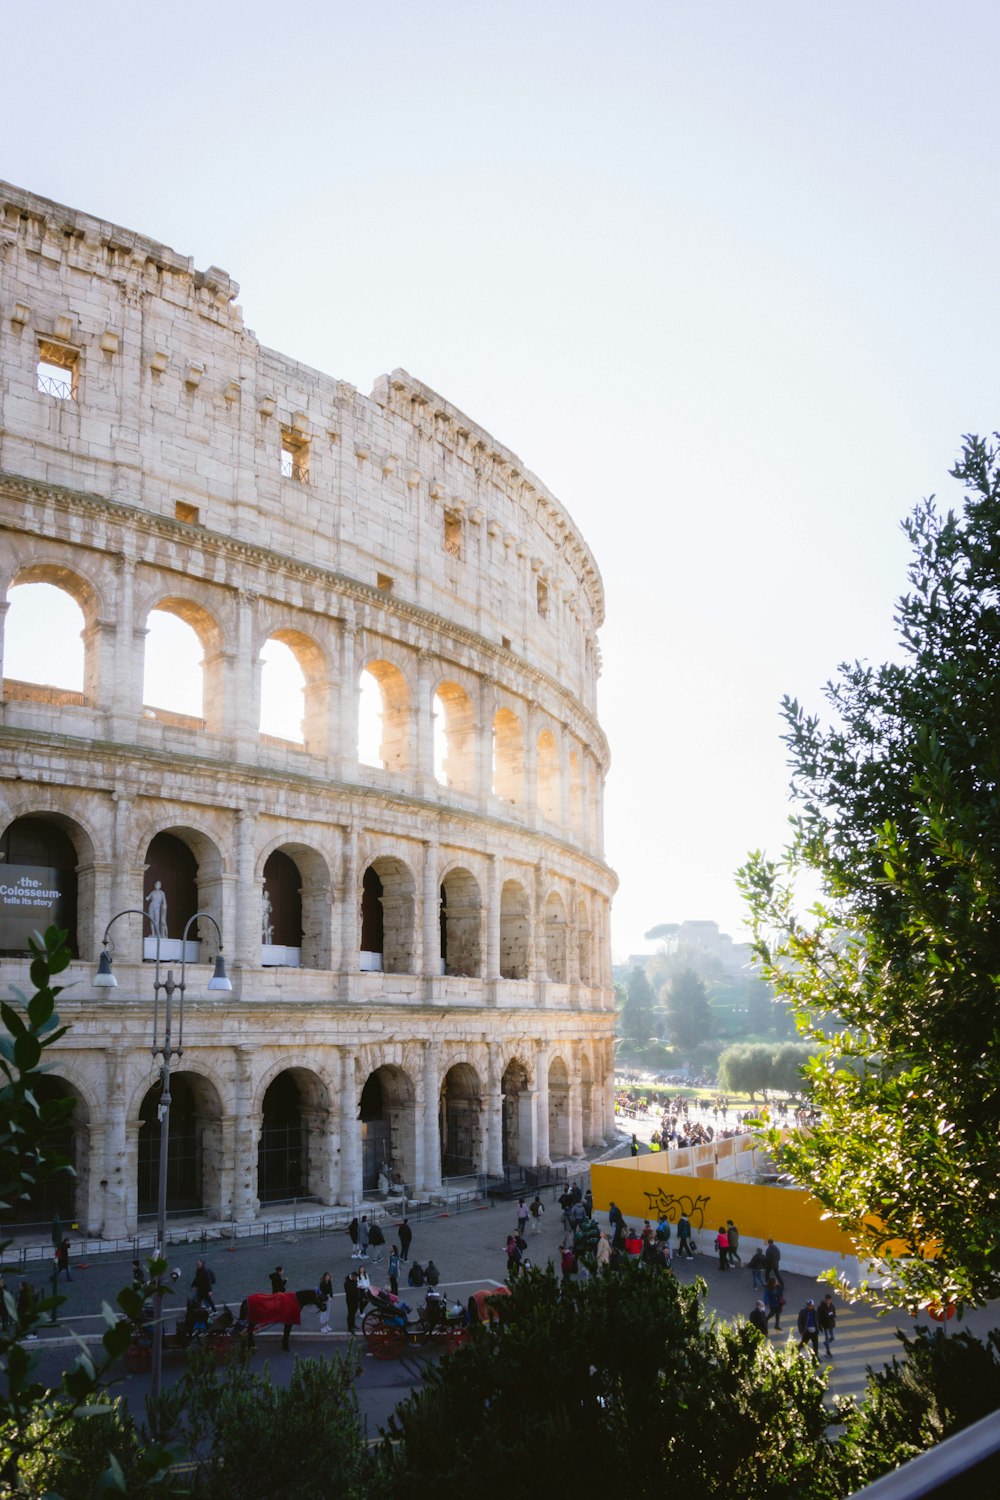
[[0, 903], [0, 954], [28, 952], [28, 938], [55, 922], [76, 942], [76, 849], [52, 818], [15, 818], [0, 836], [6, 894]]

